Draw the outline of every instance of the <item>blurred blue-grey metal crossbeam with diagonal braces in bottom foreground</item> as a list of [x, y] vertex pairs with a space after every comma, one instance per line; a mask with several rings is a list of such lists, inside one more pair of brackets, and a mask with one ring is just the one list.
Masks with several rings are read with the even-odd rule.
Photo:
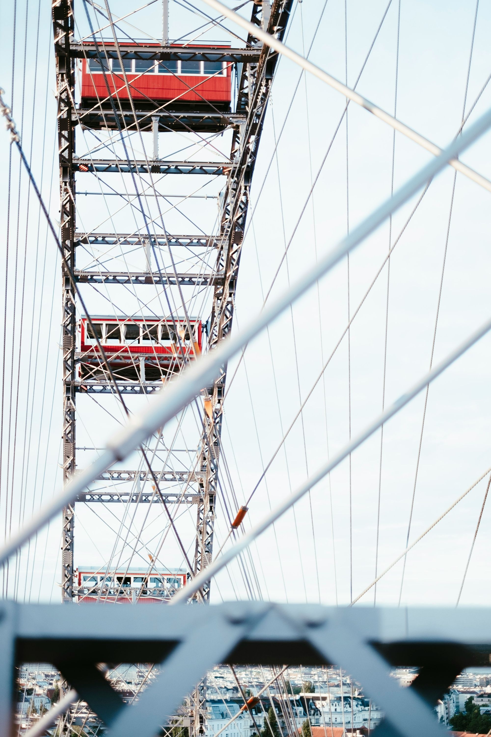
[[[356, 609], [233, 602], [211, 607], [62, 607], [2, 602], [0, 733], [10, 733], [13, 666], [54, 663], [107, 724], [107, 737], [153, 737], [218, 663], [336, 665], [381, 708], [384, 737], [442, 737], [433, 706], [463, 668], [488, 666], [491, 609]], [[197, 646], [199, 643], [199, 647]], [[159, 663], [124, 705], [98, 663]], [[390, 677], [417, 666], [411, 688]], [[375, 730], [376, 731], [376, 730]]]

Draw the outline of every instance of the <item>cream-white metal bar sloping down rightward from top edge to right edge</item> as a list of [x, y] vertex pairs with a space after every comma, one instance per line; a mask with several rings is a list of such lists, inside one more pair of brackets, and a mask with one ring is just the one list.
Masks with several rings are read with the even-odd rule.
[[[317, 77], [317, 79], [325, 82], [327, 85], [340, 92], [342, 95], [344, 95], [344, 97], [347, 97], [347, 99], [350, 99], [352, 102], [356, 102], [356, 105], [360, 105], [361, 108], [365, 108], [365, 110], [367, 110], [369, 113], [372, 113], [372, 115], [375, 115], [375, 117], [380, 118], [384, 121], [384, 123], [390, 125], [391, 128], [398, 130], [398, 132], [402, 133], [403, 136], [407, 136], [407, 138], [411, 139], [411, 141], [419, 144], [421, 147], [425, 148], [434, 156], [439, 156], [442, 153], [441, 148], [439, 148], [431, 141], [428, 141], [428, 139], [425, 139], [424, 136], [420, 136], [420, 133], [417, 133], [415, 130], [412, 130], [412, 128], [409, 128], [409, 125], [401, 123], [400, 120], [398, 120], [394, 116], [389, 115], [389, 113], [386, 113], [386, 111], [378, 108], [378, 106], [374, 105], [373, 102], [370, 102], [369, 99], [367, 99], [366, 97], [362, 97], [361, 94], [358, 94], [358, 92], [355, 92], [350, 87], [347, 87], [347, 85], [339, 82], [339, 80], [336, 80], [336, 77], [332, 77], [331, 74], [327, 73], [327, 71], [320, 69], [319, 66], [311, 63], [311, 61], [308, 61], [308, 59], [305, 59], [305, 57], [300, 56], [300, 54], [294, 52], [293, 49], [290, 49], [289, 46], [285, 46], [284, 43], [278, 41], [278, 38], [275, 38], [269, 33], [266, 33], [266, 31], [262, 30], [258, 26], [255, 26], [249, 21], [246, 21], [245, 18], [242, 18], [242, 16], [239, 15], [239, 13], [230, 10], [230, 8], [228, 8], [226, 5], [222, 4], [218, 0], [204, 1], [207, 5], [213, 7], [214, 10], [217, 10], [219, 13], [222, 13], [222, 15], [225, 15], [226, 18], [229, 18], [230, 21], [234, 21], [234, 23], [244, 28], [244, 30], [246, 30], [248, 33], [252, 33], [252, 35], [254, 35], [256, 38], [260, 38], [263, 43], [266, 43], [267, 46], [269, 46], [271, 49], [274, 49], [276, 52], [278, 52], [278, 54], [286, 56], [294, 63], [298, 64], [298, 66], [301, 66], [303, 69], [305, 69], [305, 71], [309, 71], [311, 74], [314, 74], [314, 77]], [[459, 161], [458, 158], [450, 159], [448, 161], [448, 164], [450, 164], [451, 167], [453, 167], [456, 171], [464, 174], [469, 179], [472, 179], [472, 181], [476, 182], [476, 184], [480, 184], [482, 187], [484, 187], [484, 189], [487, 189], [488, 192], [491, 192], [491, 181], [486, 177], [483, 177], [481, 174], [478, 174], [478, 172], [475, 172], [470, 167], [467, 167], [465, 164], [462, 164], [462, 161]]]

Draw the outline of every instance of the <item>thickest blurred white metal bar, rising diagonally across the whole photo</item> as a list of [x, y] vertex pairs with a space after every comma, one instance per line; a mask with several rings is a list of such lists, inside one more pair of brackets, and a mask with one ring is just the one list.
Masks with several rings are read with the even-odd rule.
[[[107, 450], [99, 458], [96, 458], [91, 466], [71, 478], [71, 481], [66, 484], [63, 491], [55, 495], [49, 504], [40, 509], [38, 514], [32, 517], [24, 528], [10, 537], [3, 548], [0, 549], [0, 562], [6, 560], [17, 548], [23, 545], [24, 542], [27, 542], [35, 531], [45, 525], [55, 514], [58, 514], [64, 506], [72, 503], [83, 489], [115, 461], [122, 461], [136, 447], [139, 447], [146, 441], [149, 436], [159, 430], [160, 427], [166, 425], [169, 419], [172, 419], [172, 417], [186, 407], [188, 402], [191, 402], [194, 397], [199, 395], [203, 387], [213, 383], [213, 380], [219, 375], [221, 366], [227, 360], [239, 352], [252, 338], [255, 338], [266, 325], [275, 320], [286, 307], [289, 307], [292, 302], [302, 296], [318, 279], [328, 273], [346, 254], [353, 251], [390, 214], [398, 210], [406, 200], [418, 192], [422, 186], [442, 170], [451, 158], [457, 156], [460, 151], [470, 146], [490, 126], [491, 109], [487, 113], [484, 113], [461, 136], [452, 141], [440, 156], [426, 164], [423, 169], [398, 189], [395, 195], [392, 195], [389, 200], [386, 200], [381, 206], [375, 209], [360, 225], [353, 228], [350, 234], [339, 242], [335, 248], [329, 251], [322, 259], [319, 259], [314, 268], [292, 284], [289, 290], [286, 290], [276, 301], [267, 305], [244, 329], [231, 338], [224, 340], [219, 348], [194, 361], [176, 381], [169, 383], [166, 391], [160, 394], [154, 402], [151, 402], [144, 413], [133, 416], [133, 419], [130, 420], [128, 425], [110, 439], [107, 444]], [[476, 340], [478, 338], [472, 340], [469, 346]], [[211, 569], [208, 568], [206, 570]]]

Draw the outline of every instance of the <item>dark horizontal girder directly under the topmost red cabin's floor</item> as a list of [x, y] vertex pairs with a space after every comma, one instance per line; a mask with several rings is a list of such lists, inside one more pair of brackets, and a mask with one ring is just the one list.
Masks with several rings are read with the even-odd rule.
[[[119, 100], [119, 108], [116, 113], [111, 108], [110, 101], [102, 103], [102, 110], [99, 105], [95, 105], [95, 102], [93, 107], [90, 108], [79, 107], [72, 123], [78, 125], [80, 122], [85, 128], [93, 130], [106, 130], [107, 128], [116, 130], [119, 122], [124, 130], [151, 130], [152, 116], [158, 116], [158, 130], [163, 133], [167, 130], [219, 133], [222, 130], [227, 130], [227, 128], [237, 128], [246, 122], [244, 113], [189, 110], [188, 105], [186, 105], [186, 109], [180, 109], [184, 108], [184, 103], [181, 103], [177, 108], [177, 103], [173, 103], [171, 108], [167, 108], [168, 103], [165, 106], [160, 105], [155, 108], [155, 103], [138, 100], [138, 110], [133, 113], [131, 108], [125, 109], [124, 102], [124, 100]], [[138, 120], [138, 128], [135, 123], [135, 116]]]

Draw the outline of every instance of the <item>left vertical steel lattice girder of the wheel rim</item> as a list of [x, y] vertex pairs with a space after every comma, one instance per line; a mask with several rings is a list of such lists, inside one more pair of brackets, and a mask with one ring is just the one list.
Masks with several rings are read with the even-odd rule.
[[[58, 159], [60, 166], [60, 241], [71, 269], [75, 267], [75, 177], [73, 153], [75, 134], [72, 125], [75, 68], [70, 54], [70, 37], [74, 33], [74, 15], [70, 0], [52, 1], [54, 54], [56, 58]], [[68, 270], [62, 265], [63, 280], [63, 479], [65, 483], [75, 470], [75, 313], [74, 287]], [[71, 601], [74, 558], [74, 510], [63, 509], [62, 538], [63, 601]]]

